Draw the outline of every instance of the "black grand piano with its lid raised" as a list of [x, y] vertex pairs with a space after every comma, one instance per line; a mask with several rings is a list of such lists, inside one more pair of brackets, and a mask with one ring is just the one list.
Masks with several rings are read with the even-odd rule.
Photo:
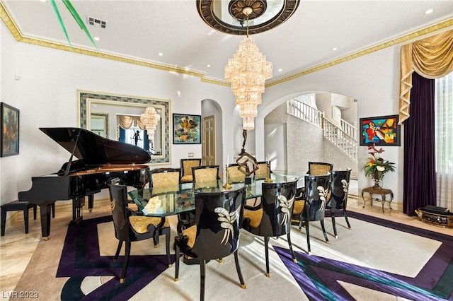
[[[55, 201], [72, 200], [71, 223], [79, 222], [85, 196], [93, 208], [93, 194], [108, 188], [115, 179], [121, 184], [143, 188], [148, 182], [147, 151], [131, 144], [113, 141], [79, 128], [40, 128], [65, 148], [71, 156], [62, 168], [50, 175], [32, 177], [32, 187], [18, 194], [19, 201], [40, 206], [42, 239], [50, 235], [50, 210]], [[73, 160], [76, 157], [79, 160]]]

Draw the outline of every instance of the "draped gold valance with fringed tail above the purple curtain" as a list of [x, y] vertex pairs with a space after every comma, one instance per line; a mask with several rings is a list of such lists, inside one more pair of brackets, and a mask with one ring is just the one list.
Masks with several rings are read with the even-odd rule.
[[453, 71], [453, 30], [401, 46], [399, 124], [409, 118], [413, 71], [425, 78]]

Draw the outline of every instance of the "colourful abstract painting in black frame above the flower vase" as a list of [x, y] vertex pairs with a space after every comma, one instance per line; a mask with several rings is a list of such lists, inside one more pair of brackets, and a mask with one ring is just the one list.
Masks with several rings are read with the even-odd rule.
[[360, 118], [360, 145], [400, 146], [401, 127], [398, 115]]

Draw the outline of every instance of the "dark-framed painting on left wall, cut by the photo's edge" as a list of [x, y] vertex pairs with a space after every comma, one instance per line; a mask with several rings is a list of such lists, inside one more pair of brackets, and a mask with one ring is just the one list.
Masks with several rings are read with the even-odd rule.
[[19, 110], [0, 102], [0, 157], [19, 154]]

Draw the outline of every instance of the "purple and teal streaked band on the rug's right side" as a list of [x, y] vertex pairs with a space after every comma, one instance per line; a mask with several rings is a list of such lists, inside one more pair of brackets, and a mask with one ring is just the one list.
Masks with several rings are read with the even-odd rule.
[[309, 300], [354, 300], [338, 283], [343, 281], [388, 293], [409, 300], [453, 300], [453, 237], [414, 228], [389, 220], [348, 212], [351, 218], [429, 237], [442, 242], [441, 246], [415, 278], [386, 273], [373, 268], [295, 252], [297, 265], [288, 249], [275, 251], [292, 273]]

